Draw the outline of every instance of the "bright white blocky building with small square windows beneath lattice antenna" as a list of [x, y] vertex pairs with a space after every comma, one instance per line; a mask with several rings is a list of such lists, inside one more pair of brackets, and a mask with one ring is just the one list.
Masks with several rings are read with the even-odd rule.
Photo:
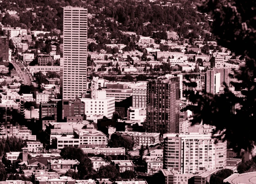
[[[95, 83], [97, 85], [97, 83]], [[115, 98], [107, 97], [106, 91], [95, 90], [95, 93], [84, 94], [76, 97], [76, 100], [83, 102], [85, 105], [85, 115], [103, 115], [111, 119], [115, 111]], [[95, 94], [95, 95], [94, 95]]]

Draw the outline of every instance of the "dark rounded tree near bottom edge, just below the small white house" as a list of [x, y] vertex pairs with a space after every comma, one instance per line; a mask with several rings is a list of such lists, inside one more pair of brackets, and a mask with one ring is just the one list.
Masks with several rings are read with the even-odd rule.
[[98, 174], [100, 178], [110, 178], [113, 180], [119, 177], [119, 172], [114, 165], [102, 166]]

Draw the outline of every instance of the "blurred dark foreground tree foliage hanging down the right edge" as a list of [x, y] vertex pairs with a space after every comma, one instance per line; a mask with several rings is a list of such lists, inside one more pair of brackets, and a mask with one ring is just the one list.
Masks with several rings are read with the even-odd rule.
[[[210, 24], [212, 33], [217, 36], [218, 44], [242, 55], [246, 59], [244, 67], [235, 71], [233, 77], [239, 80], [231, 82], [235, 89], [241, 90], [245, 98], [240, 99], [225, 88], [225, 93], [220, 96], [199, 92], [189, 95], [193, 113], [192, 125], [195, 123], [210, 124], [216, 126], [213, 134], [219, 133], [215, 138], [228, 140], [230, 148], [236, 151], [240, 149], [252, 149], [256, 137], [253, 136], [255, 124], [256, 88], [254, 79], [256, 77], [256, 55], [255, 55], [255, 29], [254, 23], [256, 8], [253, 1], [231, 0], [230, 2], [213, 0], [202, 1], [199, 11], [211, 13], [213, 22]], [[196, 86], [190, 83], [190, 86]], [[239, 104], [240, 109], [232, 111], [232, 106]], [[234, 126], [245, 122], [243, 126]], [[250, 127], [250, 128], [248, 128]]]

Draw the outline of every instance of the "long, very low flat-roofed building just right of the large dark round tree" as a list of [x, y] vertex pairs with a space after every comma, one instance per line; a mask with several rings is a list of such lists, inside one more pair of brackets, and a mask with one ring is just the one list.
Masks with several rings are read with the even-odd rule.
[[82, 148], [82, 150], [88, 154], [93, 153], [97, 154], [104, 154], [104, 155], [125, 155], [125, 148], [100, 148], [95, 146], [95, 148]]

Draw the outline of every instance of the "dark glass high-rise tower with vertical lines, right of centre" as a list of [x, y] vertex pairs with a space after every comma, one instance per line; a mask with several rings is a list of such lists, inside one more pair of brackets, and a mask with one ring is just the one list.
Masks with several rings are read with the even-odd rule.
[[179, 132], [179, 77], [158, 78], [147, 84], [146, 131]]

